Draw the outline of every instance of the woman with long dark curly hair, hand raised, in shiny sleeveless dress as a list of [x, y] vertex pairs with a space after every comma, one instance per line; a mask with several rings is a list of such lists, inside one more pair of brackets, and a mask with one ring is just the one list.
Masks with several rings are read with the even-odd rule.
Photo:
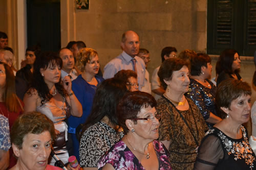
[[[82, 107], [71, 89], [71, 79], [66, 76], [60, 80], [62, 60], [55, 53], [43, 53], [34, 62], [31, 88], [24, 96], [24, 111], [39, 111], [49, 117], [58, 135], [53, 148], [64, 162], [68, 162], [66, 148], [67, 124], [64, 122], [69, 113], [82, 115]], [[54, 164], [52, 159], [51, 164]]]

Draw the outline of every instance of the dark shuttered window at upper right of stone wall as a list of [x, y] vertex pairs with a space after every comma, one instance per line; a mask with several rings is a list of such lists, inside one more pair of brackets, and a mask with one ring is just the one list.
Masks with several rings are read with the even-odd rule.
[[208, 0], [207, 54], [226, 48], [253, 56], [256, 50], [256, 0]]

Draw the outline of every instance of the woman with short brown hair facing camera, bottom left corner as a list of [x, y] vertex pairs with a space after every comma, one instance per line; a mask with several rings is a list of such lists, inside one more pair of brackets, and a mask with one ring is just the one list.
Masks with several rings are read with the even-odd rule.
[[31, 112], [19, 116], [10, 136], [18, 159], [11, 169], [61, 169], [47, 163], [56, 135], [52, 121], [44, 114]]

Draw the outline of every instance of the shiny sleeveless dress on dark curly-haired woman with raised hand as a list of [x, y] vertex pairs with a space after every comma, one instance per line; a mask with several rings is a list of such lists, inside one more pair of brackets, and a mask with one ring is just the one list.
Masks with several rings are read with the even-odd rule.
[[[54, 123], [55, 129], [60, 132], [53, 143], [53, 150], [64, 164], [68, 163], [69, 159], [69, 153], [66, 147], [66, 141], [68, 140], [68, 126], [66, 122], [64, 122], [66, 119], [66, 108], [65, 98], [63, 98], [63, 105], [61, 108], [50, 102], [36, 107], [36, 111], [45, 114], [50, 118]], [[54, 165], [54, 163], [55, 160], [51, 158], [51, 160], [49, 160], [49, 164]]]

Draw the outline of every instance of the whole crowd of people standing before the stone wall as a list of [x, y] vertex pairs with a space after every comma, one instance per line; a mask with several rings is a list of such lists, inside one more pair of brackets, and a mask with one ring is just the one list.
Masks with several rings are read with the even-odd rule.
[[0, 32], [0, 169], [256, 169], [236, 50], [220, 54], [211, 79], [207, 54], [166, 46], [150, 80], [139, 35], [126, 31], [120, 44], [103, 71], [83, 41], [57, 53], [28, 47], [16, 70]]

